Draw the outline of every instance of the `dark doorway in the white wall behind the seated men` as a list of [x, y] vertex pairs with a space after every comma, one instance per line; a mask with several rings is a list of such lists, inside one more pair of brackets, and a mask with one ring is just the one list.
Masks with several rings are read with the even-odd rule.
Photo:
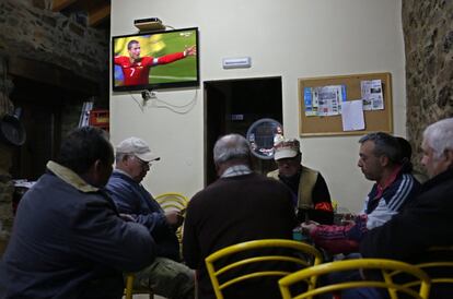
[[[246, 135], [257, 120], [282, 123], [281, 77], [256, 77], [205, 82], [205, 186], [217, 179], [212, 162], [216, 141], [229, 133]], [[254, 170], [276, 168], [272, 159], [254, 158]]]

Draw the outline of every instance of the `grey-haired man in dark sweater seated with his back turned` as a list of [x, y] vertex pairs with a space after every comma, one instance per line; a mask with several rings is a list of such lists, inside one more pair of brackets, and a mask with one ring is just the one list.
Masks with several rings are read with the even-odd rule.
[[[291, 192], [252, 171], [246, 139], [239, 134], [221, 137], [213, 159], [220, 178], [190, 200], [184, 224], [183, 254], [187, 265], [197, 270], [200, 299], [216, 298], [205, 265], [209, 254], [256, 239], [291, 239], [297, 225]], [[225, 298], [281, 298], [277, 282], [266, 282], [231, 286]]]

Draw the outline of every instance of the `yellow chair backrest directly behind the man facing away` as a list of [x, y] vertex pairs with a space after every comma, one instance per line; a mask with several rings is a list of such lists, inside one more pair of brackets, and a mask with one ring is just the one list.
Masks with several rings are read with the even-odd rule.
[[[274, 249], [277, 251], [274, 251]], [[286, 250], [286, 253], [281, 253], [283, 250]], [[234, 262], [218, 265], [217, 262], [224, 262], [225, 258], [234, 260]], [[321, 264], [322, 261], [322, 253], [314, 247], [300, 241], [283, 239], [254, 240], [233, 244], [216, 251], [205, 260], [218, 299], [223, 298], [222, 290], [224, 288], [236, 283], [263, 276], [281, 277], [292, 272], [289, 271], [290, 265], [293, 270], [297, 270]], [[269, 262], [278, 263], [274, 263], [272, 268], [266, 268], [265, 264]], [[257, 263], [260, 263], [262, 267], [256, 265]], [[253, 271], [248, 267], [252, 264], [255, 264]], [[228, 278], [221, 279], [225, 277], [223, 275], [228, 275]], [[313, 284], [315, 284], [315, 280], [313, 280]], [[259, 288], [259, 285], [257, 285], [257, 288]]]

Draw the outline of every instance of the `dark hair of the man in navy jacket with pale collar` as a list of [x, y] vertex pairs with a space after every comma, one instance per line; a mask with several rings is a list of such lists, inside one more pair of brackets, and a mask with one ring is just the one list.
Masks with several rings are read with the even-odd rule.
[[97, 159], [106, 164], [113, 163], [114, 151], [107, 132], [95, 127], [82, 127], [68, 133], [56, 162], [83, 175]]

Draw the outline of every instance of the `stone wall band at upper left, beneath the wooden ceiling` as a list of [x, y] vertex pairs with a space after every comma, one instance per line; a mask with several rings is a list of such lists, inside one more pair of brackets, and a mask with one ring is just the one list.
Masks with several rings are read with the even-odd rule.
[[0, 2], [0, 53], [49, 62], [95, 82], [108, 70], [106, 31], [83, 26], [33, 2]]

